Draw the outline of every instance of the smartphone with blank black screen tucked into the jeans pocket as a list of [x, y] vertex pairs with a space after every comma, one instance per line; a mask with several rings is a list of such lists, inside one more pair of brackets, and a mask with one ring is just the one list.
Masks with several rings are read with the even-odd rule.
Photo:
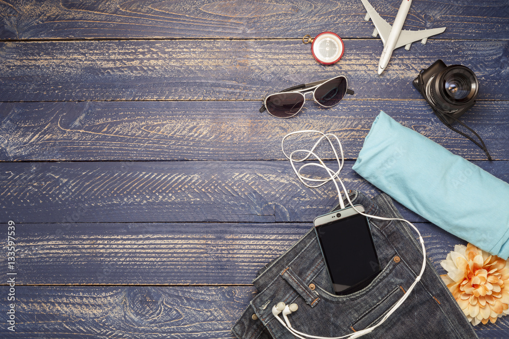
[[[352, 210], [354, 214], [349, 215]], [[315, 231], [332, 288], [336, 294], [360, 290], [381, 270], [369, 222], [352, 207], [322, 217], [327, 215], [332, 216], [329, 220], [335, 218], [334, 221], [316, 226]]]

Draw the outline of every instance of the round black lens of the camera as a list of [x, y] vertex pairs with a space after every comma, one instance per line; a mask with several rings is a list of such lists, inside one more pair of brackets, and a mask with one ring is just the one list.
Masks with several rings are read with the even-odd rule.
[[436, 74], [430, 83], [430, 97], [440, 108], [455, 111], [473, 103], [479, 82], [468, 67], [452, 65]]

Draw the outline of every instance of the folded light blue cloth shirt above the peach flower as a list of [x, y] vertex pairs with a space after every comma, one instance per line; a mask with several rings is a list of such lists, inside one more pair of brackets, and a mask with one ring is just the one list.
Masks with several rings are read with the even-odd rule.
[[384, 112], [373, 122], [353, 169], [435, 225], [509, 257], [509, 184]]

